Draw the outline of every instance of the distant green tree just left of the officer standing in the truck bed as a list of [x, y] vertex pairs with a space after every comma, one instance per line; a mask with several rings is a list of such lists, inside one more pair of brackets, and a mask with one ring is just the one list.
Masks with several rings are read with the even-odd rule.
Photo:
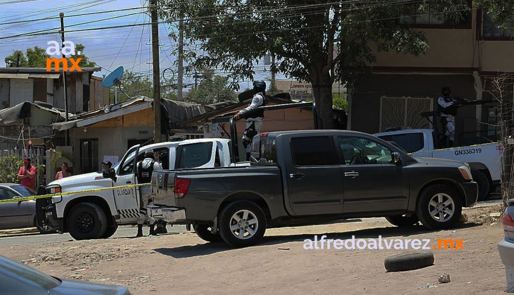
[[237, 94], [228, 86], [226, 76], [215, 75], [213, 70], [205, 71], [204, 75], [205, 78], [200, 81], [197, 89], [187, 92], [188, 100], [201, 104], [237, 100]]

